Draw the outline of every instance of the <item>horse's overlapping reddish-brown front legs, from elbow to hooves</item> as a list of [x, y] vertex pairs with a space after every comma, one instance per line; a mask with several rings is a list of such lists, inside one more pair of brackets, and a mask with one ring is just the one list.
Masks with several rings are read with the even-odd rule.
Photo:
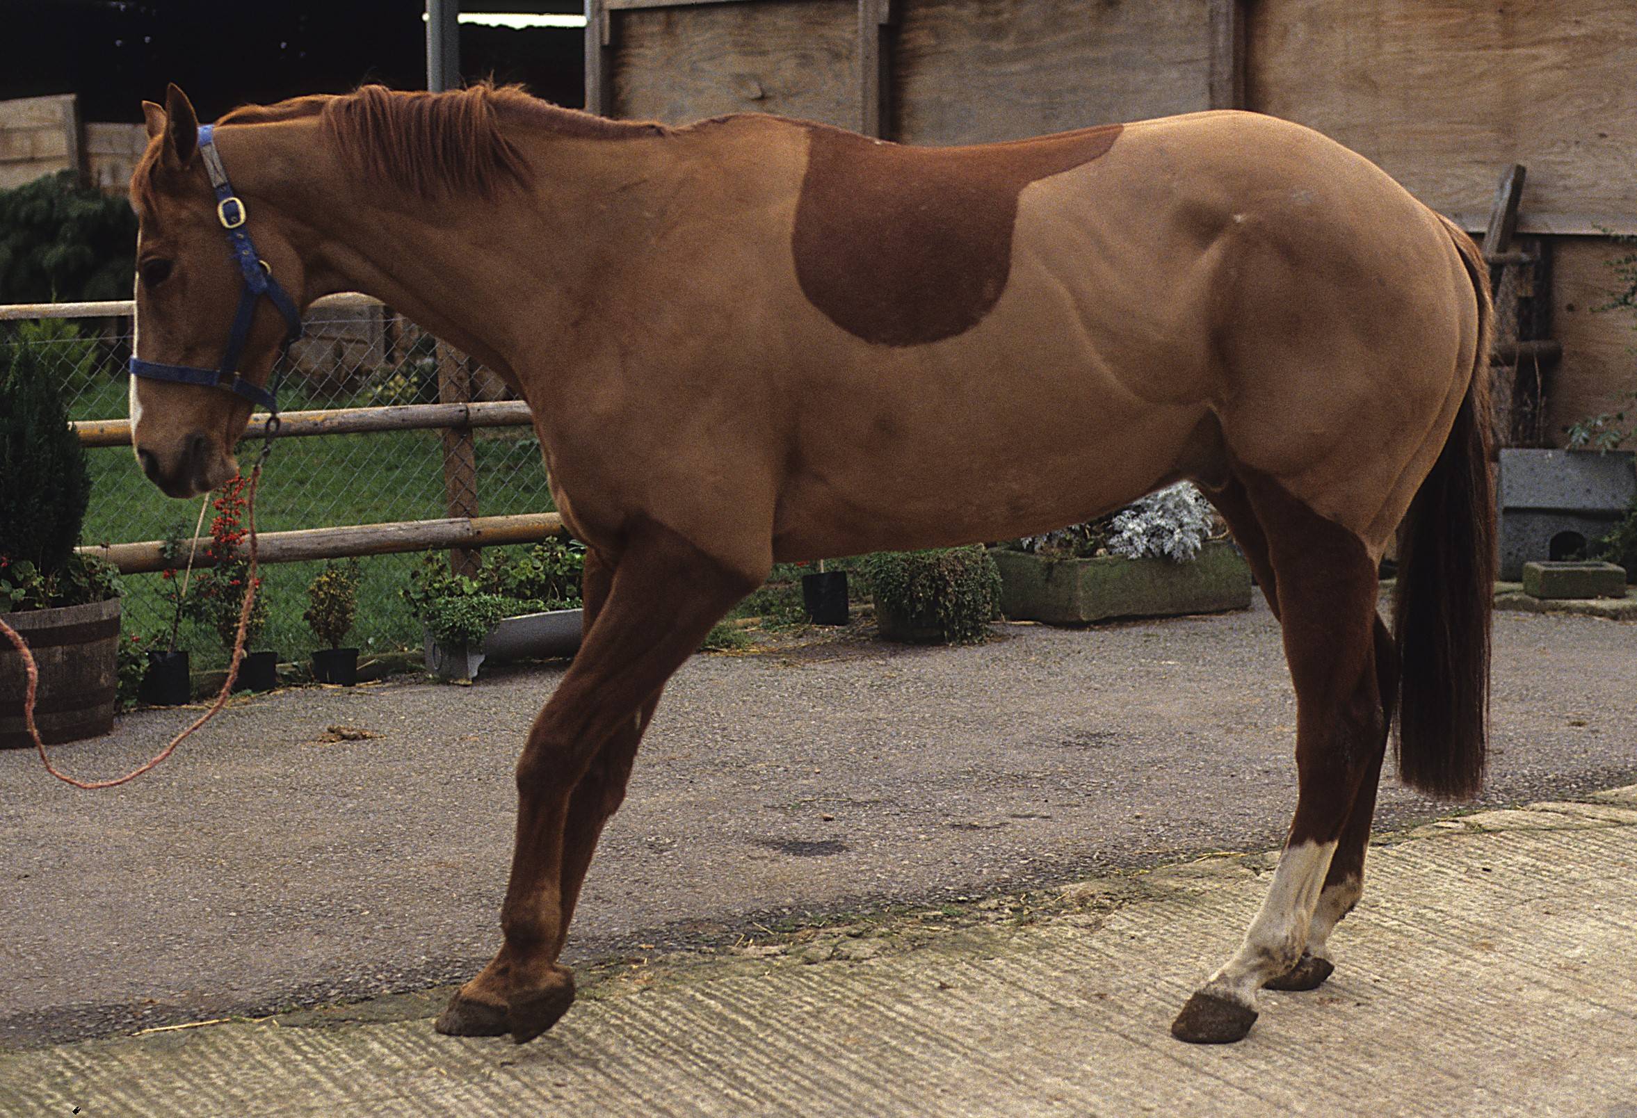
[[617, 805], [614, 784], [624, 791], [630, 755], [660, 687], [753, 588], [753, 578], [724, 568], [660, 525], [630, 540], [607, 601], [517, 761], [517, 840], [501, 908], [504, 943], [453, 997], [439, 1031], [509, 1031], [522, 1043], [568, 1010], [575, 982], [557, 958], [591, 848]]

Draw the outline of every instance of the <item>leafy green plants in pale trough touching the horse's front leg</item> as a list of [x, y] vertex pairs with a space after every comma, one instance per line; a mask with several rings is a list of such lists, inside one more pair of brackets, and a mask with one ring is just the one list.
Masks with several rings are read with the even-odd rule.
[[429, 553], [403, 591], [426, 629], [426, 666], [471, 679], [485, 660], [571, 656], [579, 648], [584, 545], [545, 540], [524, 555], [485, 557], [476, 576]]

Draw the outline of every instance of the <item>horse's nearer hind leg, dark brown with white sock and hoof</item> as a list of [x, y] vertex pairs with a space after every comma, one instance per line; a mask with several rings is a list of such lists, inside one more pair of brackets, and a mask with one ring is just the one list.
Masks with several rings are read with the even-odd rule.
[[[1285, 658], [1297, 689], [1300, 797], [1274, 882], [1242, 946], [1170, 1026], [1177, 1038], [1193, 1043], [1242, 1038], [1256, 1021], [1257, 989], [1300, 962], [1344, 836], [1349, 851], [1357, 838], [1362, 861], [1362, 838], [1349, 823], [1355, 802], [1367, 807], [1360, 791], [1373, 782], [1387, 746], [1373, 558], [1355, 534], [1315, 514], [1275, 483], [1251, 476], [1246, 493], [1277, 578]], [[1364, 836], [1369, 814], [1359, 812]], [[1339, 902], [1346, 882], [1336, 884], [1331, 897]]]

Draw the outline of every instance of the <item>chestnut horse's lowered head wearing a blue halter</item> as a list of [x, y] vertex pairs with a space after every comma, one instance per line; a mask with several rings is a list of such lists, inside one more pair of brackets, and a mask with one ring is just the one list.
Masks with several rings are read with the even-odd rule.
[[[131, 178], [141, 221], [131, 444], [154, 485], [187, 498], [239, 470], [234, 447], [252, 404], [265, 403], [259, 390], [295, 321], [285, 291], [300, 298], [301, 262], [273, 206], [223, 200], [231, 188], [216, 185], [182, 90], [172, 85], [164, 108], [144, 101], [142, 113], [149, 142]], [[250, 178], [244, 147], [229, 147], [236, 182]]]

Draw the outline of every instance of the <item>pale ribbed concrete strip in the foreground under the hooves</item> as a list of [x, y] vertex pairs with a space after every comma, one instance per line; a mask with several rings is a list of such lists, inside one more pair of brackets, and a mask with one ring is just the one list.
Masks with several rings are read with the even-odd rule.
[[7, 1115], [1637, 1115], [1637, 786], [1380, 840], [1311, 994], [1167, 1023], [1269, 854], [635, 958], [539, 1041], [444, 990], [0, 1056]]

